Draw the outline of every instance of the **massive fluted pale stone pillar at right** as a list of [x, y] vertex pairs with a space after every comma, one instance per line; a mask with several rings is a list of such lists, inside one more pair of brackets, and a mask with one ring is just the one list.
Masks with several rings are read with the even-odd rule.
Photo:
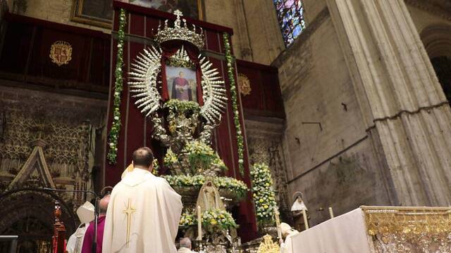
[[395, 205], [451, 204], [451, 110], [402, 0], [327, 0]]

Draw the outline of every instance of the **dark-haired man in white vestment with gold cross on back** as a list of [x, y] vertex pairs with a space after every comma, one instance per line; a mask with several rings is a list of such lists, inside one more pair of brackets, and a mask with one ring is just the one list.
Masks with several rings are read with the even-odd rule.
[[133, 166], [111, 193], [104, 229], [104, 253], [175, 253], [182, 213], [180, 195], [152, 174], [149, 148], [133, 153]]

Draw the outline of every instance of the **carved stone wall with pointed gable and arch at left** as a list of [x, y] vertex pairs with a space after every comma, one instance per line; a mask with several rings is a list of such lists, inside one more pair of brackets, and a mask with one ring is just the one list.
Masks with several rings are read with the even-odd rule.
[[42, 188], [93, 189], [96, 131], [106, 102], [5, 86], [0, 101], [0, 234], [19, 235], [19, 246], [44, 252], [55, 200], [70, 234], [79, 222], [75, 209], [91, 196]]

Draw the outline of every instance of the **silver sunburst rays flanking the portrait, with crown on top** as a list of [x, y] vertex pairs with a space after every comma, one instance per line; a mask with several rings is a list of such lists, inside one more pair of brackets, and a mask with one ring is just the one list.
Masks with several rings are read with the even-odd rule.
[[[181, 34], [177, 35], [177, 33], [174, 33], [171, 37], [163, 37], [163, 39], [161, 39], [161, 37], [158, 39], [157, 37], [159, 43], [171, 39], [183, 39], [187, 35], [185, 34], [187, 31], [185, 20], [185, 27], [180, 27], [180, 16], [182, 13], [178, 11], [175, 15], [177, 15], [175, 27], [168, 27], [168, 20], [166, 20], [165, 30], [168, 31], [168, 28], [171, 28], [171, 31], [180, 30], [182, 31]], [[195, 29], [194, 33], [197, 34]], [[197, 34], [196, 38], [199, 38], [199, 36], [201, 35]], [[203, 39], [203, 36], [201, 37]], [[180, 51], [180, 53], [182, 53], [182, 51]], [[208, 124], [215, 125], [221, 121], [221, 113], [227, 105], [224, 81], [218, 70], [212, 67], [213, 64], [207, 58], [199, 55], [199, 63], [202, 73], [201, 84], [204, 100], [204, 105], [201, 107], [200, 114], [206, 119]], [[128, 82], [130, 91], [135, 93], [133, 97], [137, 98], [135, 102], [137, 107], [141, 109], [141, 112], [144, 113], [146, 117], [149, 117], [156, 112], [156, 110], [161, 108], [161, 95], [158, 91], [158, 86], [161, 85], [161, 81], [158, 80], [161, 72], [161, 48], [159, 46], [144, 48], [144, 51], [135, 58], [135, 63], [132, 63], [131, 65], [131, 81]]]

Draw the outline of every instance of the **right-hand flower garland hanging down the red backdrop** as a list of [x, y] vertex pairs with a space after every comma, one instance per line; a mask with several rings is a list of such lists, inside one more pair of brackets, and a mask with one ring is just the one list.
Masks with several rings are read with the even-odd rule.
[[243, 138], [242, 132], [241, 132], [240, 111], [238, 110], [238, 102], [237, 102], [238, 95], [237, 95], [237, 87], [235, 85], [235, 70], [233, 67], [233, 56], [232, 56], [232, 53], [230, 52], [229, 35], [227, 32], [224, 32], [223, 39], [224, 39], [224, 48], [226, 50], [227, 72], [228, 72], [228, 79], [230, 82], [230, 95], [232, 96], [233, 119], [235, 122], [235, 128], [237, 129], [238, 165], [240, 168], [241, 176], [244, 176], [244, 174], [245, 174], [245, 168], [244, 168], [245, 145], [244, 145], [244, 138]]

